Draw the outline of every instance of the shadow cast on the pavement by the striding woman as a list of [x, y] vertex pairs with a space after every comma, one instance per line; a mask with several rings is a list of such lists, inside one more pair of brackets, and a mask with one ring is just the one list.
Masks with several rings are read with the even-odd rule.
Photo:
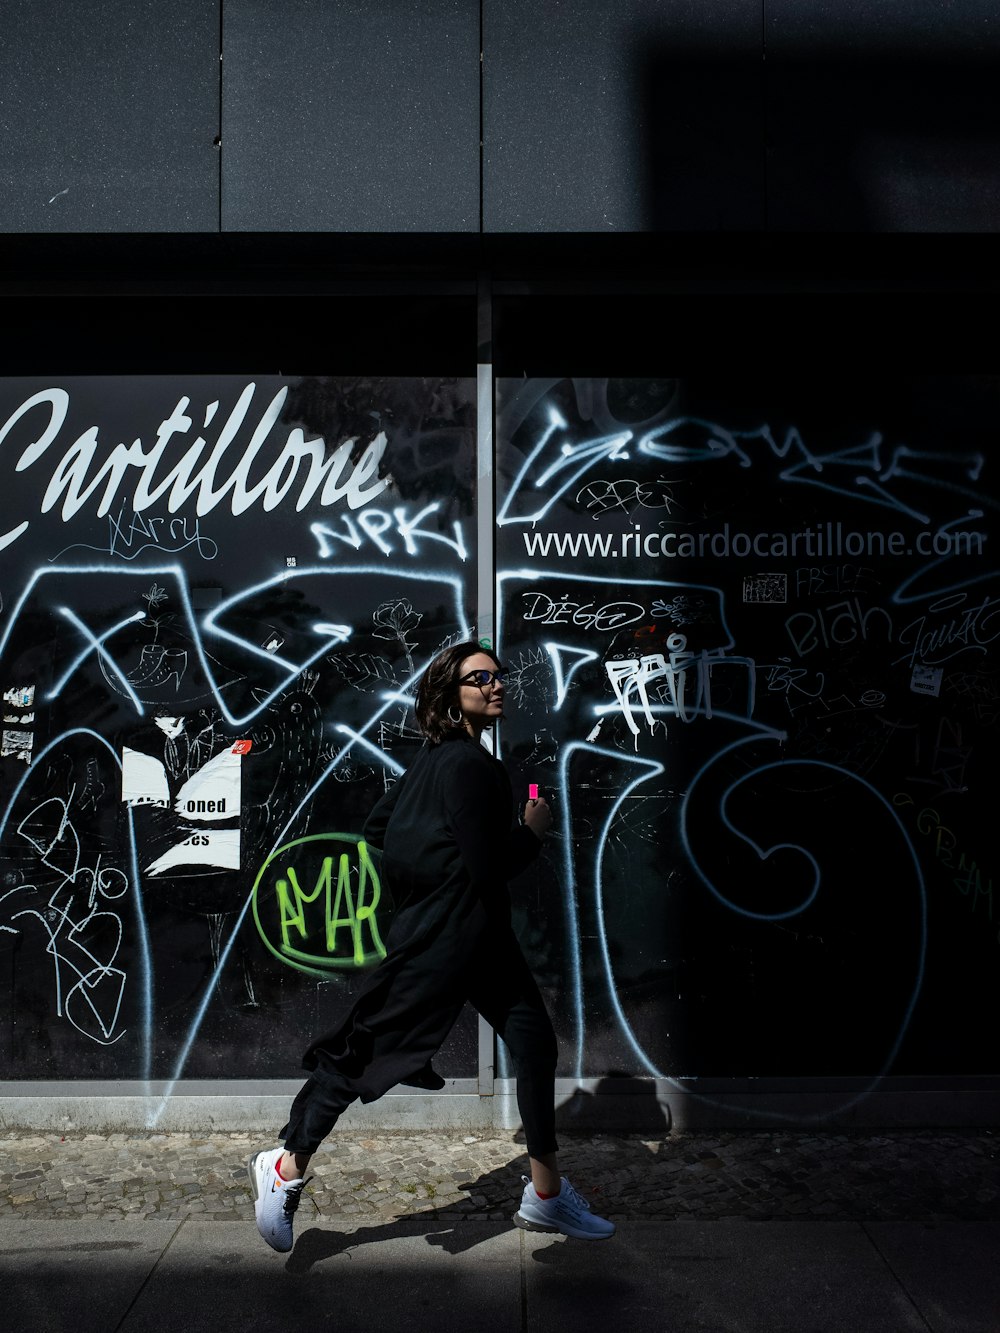
[[[631, 1077], [601, 1078], [593, 1090], [577, 1089], [556, 1109], [560, 1136], [560, 1169], [593, 1205], [597, 1213], [621, 1212], [613, 1189], [605, 1189], [601, 1176], [620, 1177], [640, 1172], [651, 1158], [651, 1138], [665, 1137], [671, 1130], [669, 1112], [656, 1100], [651, 1081]], [[484, 1172], [476, 1180], [463, 1181], [468, 1194], [445, 1208], [428, 1208], [372, 1226], [349, 1232], [311, 1226], [301, 1232], [289, 1254], [288, 1273], [307, 1273], [316, 1264], [361, 1245], [423, 1234], [428, 1245], [449, 1254], [461, 1254], [496, 1234], [496, 1214], [513, 1217], [521, 1192], [521, 1173], [528, 1162], [524, 1156], [524, 1133], [511, 1136], [511, 1162]], [[519, 1146], [521, 1145], [521, 1146]], [[473, 1202], [475, 1200], [475, 1202]], [[493, 1220], [488, 1220], [488, 1218]], [[479, 1225], [475, 1225], [479, 1224]], [[535, 1258], [545, 1254], [540, 1249]]]

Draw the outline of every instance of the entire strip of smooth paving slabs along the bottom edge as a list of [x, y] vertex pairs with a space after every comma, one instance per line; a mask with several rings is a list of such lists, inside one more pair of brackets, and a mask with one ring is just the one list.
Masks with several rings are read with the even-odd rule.
[[17, 1333], [996, 1333], [997, 1222], [625, 1221], [609, 1241], [504, 1221], [0, 1220]]

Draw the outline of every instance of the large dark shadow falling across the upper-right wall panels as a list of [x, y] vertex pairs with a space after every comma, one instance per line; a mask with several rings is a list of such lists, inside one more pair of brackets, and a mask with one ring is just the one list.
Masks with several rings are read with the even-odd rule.
[[997, 60], [640, 57], [655, 232], [1000, 229]]

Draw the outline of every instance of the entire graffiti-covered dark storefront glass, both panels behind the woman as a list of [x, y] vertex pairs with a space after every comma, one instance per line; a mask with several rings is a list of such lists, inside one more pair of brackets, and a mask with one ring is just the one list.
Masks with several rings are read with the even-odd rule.
[[[475, 391], [0, 381], [8, 1078], [293, 1077], [351, 1002], [392, 916], [364, 817], [485, 611]], [[499, 381], [500, 753], [556, 813], [513, 890], [563, 1074], [996, 1073], [999, 405]]]

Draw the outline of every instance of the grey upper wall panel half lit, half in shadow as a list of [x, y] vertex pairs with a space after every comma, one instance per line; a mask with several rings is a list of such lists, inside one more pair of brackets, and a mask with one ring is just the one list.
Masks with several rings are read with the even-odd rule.
[[487, 232], [760, 225], [755, 0], [487, 0]]

